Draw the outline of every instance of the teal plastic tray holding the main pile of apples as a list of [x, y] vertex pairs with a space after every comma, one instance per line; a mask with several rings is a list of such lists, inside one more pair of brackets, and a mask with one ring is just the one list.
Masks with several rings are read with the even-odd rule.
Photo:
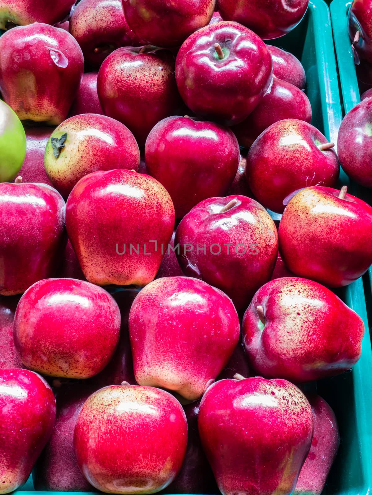
[[[291, 51], [300, 58], [307, 75], [306, 92], [313, 108], [312, 123], [329, 140], [335, 141], [342, 113], [331, 40], [329, 9], [324, 1], [312, 0], [296, 29], [267, 43]], [[334, 409], [341, 434], [339, 453], [324, 494], [362, 495], [368, 494], [372, 487], [372, 428], [369, 419], [372, 411], [372, 353], [362, 280], [337, 294], [363, 318], [366, 334], [361, 359], [351, 372], [311, 385]], [[337, 332], [337, 328], [334, 331]], [[31, 480], [18, 492], [22, 495], [43, 493], [33, 491]]]

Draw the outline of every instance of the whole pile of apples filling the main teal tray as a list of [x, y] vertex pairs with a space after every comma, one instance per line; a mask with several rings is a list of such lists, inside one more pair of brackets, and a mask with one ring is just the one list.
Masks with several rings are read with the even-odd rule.
[[372, 208], [263, 41], [308, 0], [72, 3], [0, 0], [0, 494], [320, 494]]

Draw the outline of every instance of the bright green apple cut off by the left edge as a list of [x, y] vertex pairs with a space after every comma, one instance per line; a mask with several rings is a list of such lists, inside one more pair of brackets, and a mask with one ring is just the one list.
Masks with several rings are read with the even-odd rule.
[[26, 155], [26, 135], [13, 110], [0, 100], [0, 182], [10, 182]]

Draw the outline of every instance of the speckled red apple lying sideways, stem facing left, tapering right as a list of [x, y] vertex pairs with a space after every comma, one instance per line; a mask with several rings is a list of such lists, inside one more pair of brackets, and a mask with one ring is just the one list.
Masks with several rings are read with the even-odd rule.
[[244, 314], [242, 335], [257, 373], [302, 383], [352, 368], [361, 355], [364, 324], [317, 282], [283, 277], [257, 291]]

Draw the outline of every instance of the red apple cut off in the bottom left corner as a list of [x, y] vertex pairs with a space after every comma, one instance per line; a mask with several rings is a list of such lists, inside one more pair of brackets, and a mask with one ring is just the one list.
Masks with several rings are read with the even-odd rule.
[[23, 369], [0, 370], [0, 494], [26, 483], [55, 420], [47, 382]]

